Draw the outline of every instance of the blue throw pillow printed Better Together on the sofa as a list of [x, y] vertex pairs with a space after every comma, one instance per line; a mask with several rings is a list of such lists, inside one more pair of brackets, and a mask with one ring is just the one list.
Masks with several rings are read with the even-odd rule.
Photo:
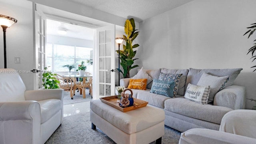
[[154, 78], [150, 92], [172, 98], [173, 88], [174, 81], [158, 80]]

